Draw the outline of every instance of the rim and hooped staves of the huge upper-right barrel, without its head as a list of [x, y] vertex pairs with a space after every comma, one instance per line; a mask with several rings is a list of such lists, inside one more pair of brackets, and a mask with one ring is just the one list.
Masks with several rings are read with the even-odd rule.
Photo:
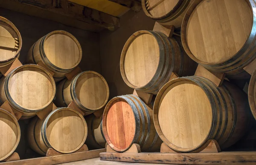
[[[192, 60], [203, 65], [205, 68], [209, 69], [210, 71], [225, 72], [227, 76], [233, 76], [234, 74], [240, 74], [244, 72], [243, 68], [256, 58], [256, 54], [253, 53], [256, 50], [256, 11], [253, 10], [256, 7], [255, 5], [252, 5], [254, 4], [253, 0], [246, 0], [248, 5], [252, 8], [252, 12], [253, 12], [253, 27], [246, 43], [229, 60], [226, 60], [223, 63], [215, 63], [215, 64], [206, 63], [198, 60], [192, 54], [192, 52], [189, 49], [189, 46], [186, 43], [186, 25], [188, 23], [189, 16], [191, 15], [192, 11], [196, 8], [196, 6], [199, 3], [201, 3], [201, 1], [203, 0], [194, 0], [194, 2], [189, 6], [189, 9], [186, 11], [186, 15], [183, 19], [183, 23], [181, 26], [181, 41], [182, 41], [184, 50]], [[243, 75], [241, 74], [241, 76]]]

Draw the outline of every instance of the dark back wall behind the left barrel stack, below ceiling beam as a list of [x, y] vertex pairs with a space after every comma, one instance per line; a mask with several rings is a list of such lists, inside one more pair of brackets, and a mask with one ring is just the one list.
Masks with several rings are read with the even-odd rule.
[[[80, 68], [83, 71], [101, 72], [99, 56], [99, 34], [65, 26], [61, 23], [32, 17], [15, 11], [0, 8], [0, 16], [10, 20], [20, 31], [23, 45], [19, 60], [23, 63], [29, 48], [41, 37], [55, 30], [64, 30], [73, 34], [81, 44], [83, 57]], [[53, 16], [54, 17], [54, 16]]]

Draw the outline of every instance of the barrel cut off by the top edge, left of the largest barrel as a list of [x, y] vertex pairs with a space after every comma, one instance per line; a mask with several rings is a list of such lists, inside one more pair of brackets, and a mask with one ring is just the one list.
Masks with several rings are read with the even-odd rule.
[[141, 0], [144, 13], [162, 25], [180, 28], [193, 0]]

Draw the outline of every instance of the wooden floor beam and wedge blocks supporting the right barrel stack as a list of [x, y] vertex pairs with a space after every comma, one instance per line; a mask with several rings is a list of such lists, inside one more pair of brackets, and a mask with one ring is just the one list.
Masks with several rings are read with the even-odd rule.
[[[174, 34], [174, 26], [162, 26], [155, 23], [153, 31], [161, 31], [168, 37]], [[177, 35], [177, 34], [175, 34]], [[244, 67], [244, 70], [252, 74], [256, 68], [256, 60]], [[211, 80], [215, 85], [221, 86], [224, 79], [224, 73], [208, 71], [201, 65], [198, 65], [195, 76], [200, 76]], [[172, 73], [169, 80], [179, 77]], [[134, 90], [134, 95], [139, 96], [149, 104], [153, 95], [142, 91]], [[218, 142], [211, 139], [204, 146], [194, 151], [195, 153], [177, 153], [162, 143], [160, 152], [141, 152], [140, 145], [133, 144], [128, 151], [118, 153], [113, 151], [107, 145], [106, 152], [100, 153], [101, 160], [119, 161], [119, 162], [136, 162], [136, 163], [157, 163], [157, 164], [175, 164], [175, 165], [256, 165], [256, 151], [239, 151], [239, 152], [221, 152]]]

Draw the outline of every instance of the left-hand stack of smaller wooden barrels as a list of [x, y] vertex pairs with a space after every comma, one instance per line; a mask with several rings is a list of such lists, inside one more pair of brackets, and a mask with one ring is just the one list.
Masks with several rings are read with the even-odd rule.
[[[90, 149], [104, 148], [100, 129], [94, 131], [93, 127], [88, 132], [83, 115], [105, 106], [108, 84], [95, 71], [73, 72], [82, 58], [76, 37], [67, 31], [50, 32], [32, 45], [26, 65], [22, 65], [18, 60], [22, 48], [20, 32], [3, 17], [0, 31], [0, 161], [7, 159], [19, 144], [23, 133], [19, 119], [32, 118], [26, 132], [30, 147], [38, 154], [46, 155], [48, 148], [63, 154], [75, 152], [84, 145], [87, 134], [99, 141], [99, 146]], [[73, 78], [67, 80], [67, 74]], [[52, 102], [60, 108], [49, 111], [55, 107]], [[101, 121], [95, 115], [89, 118], [96, 121], [90, 122], [90, 127]], [[88, 139], [87, 143], [90, 141], [94, 142]]]

